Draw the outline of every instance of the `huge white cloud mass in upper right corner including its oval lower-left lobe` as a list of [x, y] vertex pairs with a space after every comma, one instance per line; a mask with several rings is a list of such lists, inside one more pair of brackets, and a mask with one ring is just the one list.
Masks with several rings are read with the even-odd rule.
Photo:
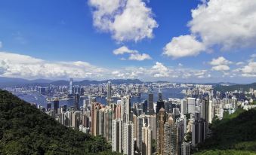
[[[166, 46], [169, 46], [167, 48], [169, 54], [166, 55], [173, 57], [193, 56], [202, 51], [211, 50], [211, 47], [220, 47], [221, 50], [255, 47], [255, 8], [256, 1], [249, 0], [202, 1], [201, 5], [191, 11], [192, 20], [188, 23], [191, 35], [196, 36], [196, 38], [190, 38], [190, 41], [196, 42], [200, 46], [189, 50], [190, 48], [186, 48], [185, 43], [173, 45], [168, 43]], [[182, 38], [183, 35], [180, 37]], [[172, 41], [182, 42], [183, 39], [177, 39], [180, 37], [173, 38]], [[172, 50], [171, 47], [179, 50]], [[180, 50], [186, 52], [175, 54]], [[166, 53], [166, 50], [163, 53]]]

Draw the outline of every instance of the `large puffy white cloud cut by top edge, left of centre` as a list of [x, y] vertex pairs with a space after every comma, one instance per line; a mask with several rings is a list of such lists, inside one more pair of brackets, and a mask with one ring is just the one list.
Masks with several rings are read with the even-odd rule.
[[116, 41], [153, 38], [153, 29], [158, 27], [143, 0], [89, 0], [88, 5], [94, 9], [94, 26], [110, 32]]

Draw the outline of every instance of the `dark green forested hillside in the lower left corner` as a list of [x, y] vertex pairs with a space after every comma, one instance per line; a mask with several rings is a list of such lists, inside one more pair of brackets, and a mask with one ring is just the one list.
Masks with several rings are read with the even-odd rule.
[[118, 154], [110, 148], [103, 137], [69, 129], [0, 90], [0, 154]]

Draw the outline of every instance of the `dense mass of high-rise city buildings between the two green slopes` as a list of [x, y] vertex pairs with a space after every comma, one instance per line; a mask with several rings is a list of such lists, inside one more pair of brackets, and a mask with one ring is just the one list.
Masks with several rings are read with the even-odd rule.
[[[252, 106], [240, 99], [242, 93], [221, 93], [214, 91], [211, 85], [202, 84], [190, 87], [180, 84], [180, 87], [186, 87], [184, 99], [164, 99], [159, 89], [157, 102], [154, 102], [153, 87], [149, 86], [147, 100], [131, 104], [131, 94], [140, 96], [146, 87], [140, 84], [132, 89], [113, 87], [109, 81], [94, 88], [97, 93], [105, 94], [106, 104], [88, 96], [79, 107], [80, 96], [85, 95], [87, 90], [74, 87], [71, 79], [66, 92], [69, 98], [74, 99], [72, 106], [60, 106], [59, 100], [54, 99], [53, 108], [51, 102], [46, 109], [39, 108], [65, 126], [95, 136], [102, 135], [112, 144], [115, 152], [127, 155], [189, 155], [191, 150], [211, 136], [208, 126], [214, 119], [233, 114], [239, 106]], [[254, 90], [250, 91], [254, 93]], [[119, 98], [113, 100], [117, 96]]]

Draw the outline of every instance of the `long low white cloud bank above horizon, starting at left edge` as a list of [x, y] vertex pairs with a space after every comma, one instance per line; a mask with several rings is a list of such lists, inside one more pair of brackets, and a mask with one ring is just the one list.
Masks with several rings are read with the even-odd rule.
[[17, 53], [0, 52], [0, 76], [12, 78], [93, 78], [94, 80], [113, 78], [139, 78], [143, 81], [157, 81], [187, 78], [210, 78], [209, 71], [193, 68], [166, 66], [156, 62], [147, 67], [102, 68], [88, 62], [50, 62]]

